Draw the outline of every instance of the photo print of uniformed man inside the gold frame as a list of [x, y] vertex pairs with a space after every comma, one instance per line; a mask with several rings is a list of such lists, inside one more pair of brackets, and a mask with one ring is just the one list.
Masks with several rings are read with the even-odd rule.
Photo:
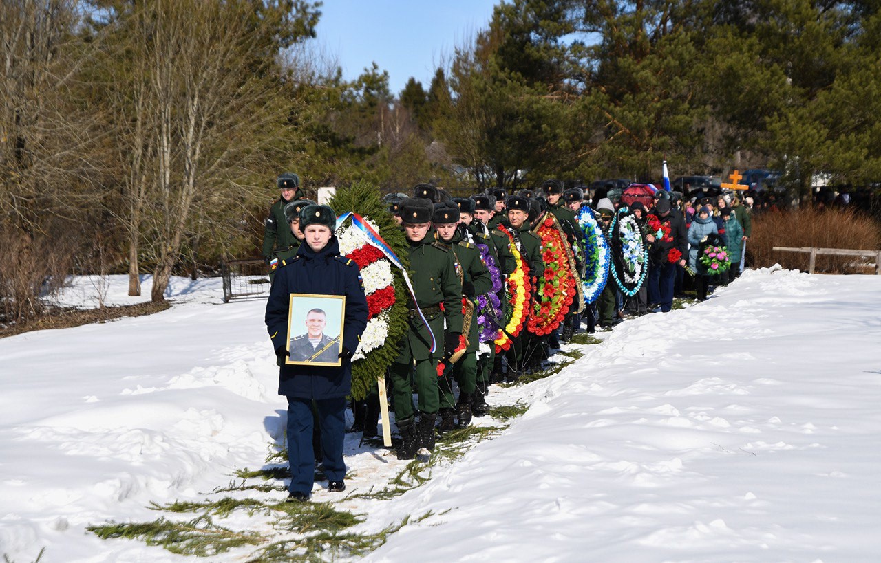
[[[298, 307], [300, 301], [309, 303], [321, 301], [342, 301], [336, 297], [316, 298], [315, 296], [291, 296], [291, 330], [299, 322], [297, 320]], [[333, 304], [333, 303], [330, 303]], [[328, 305], [324, 305], [328, 309]], [[302, 318], [302, 317], [299, 317]], [[307, 333], [293, 336], [289, 341], [289, 350], [291, 352], [287, 363], [321, 363], [327, 365], [338, 366], [340, 364], [339, 352], [343, 342], [343, 334], [341, 333], [342, 318], [340, 315], [332, 315], [328, 318], [328, 313], [319, 307], [313, 307], [306, 313], [304, 321]], [[330, 327], [330, 328], [329, 328]], [[325, 333], [329, 330], [330, 334]]]

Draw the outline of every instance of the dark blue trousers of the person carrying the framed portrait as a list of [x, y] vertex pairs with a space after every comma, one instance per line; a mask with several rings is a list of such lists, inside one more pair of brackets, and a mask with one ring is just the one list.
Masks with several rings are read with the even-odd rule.
[[[345, 436], [345, 398], [315, 399], [322, 435], [324, 474], [329, 481], [345, 478], [343, 439]], [[315, 485], [315, 452], [312, 450], [311, 398], [287, 398], [287, 457], [291, 466], [291, 493], [312, 494]]]

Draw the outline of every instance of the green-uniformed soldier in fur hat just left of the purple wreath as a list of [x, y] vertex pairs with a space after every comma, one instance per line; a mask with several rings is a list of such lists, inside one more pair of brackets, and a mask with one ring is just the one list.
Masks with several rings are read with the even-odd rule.
[[[470, 200], [466, 201], [470, 202]], [[489, 269], [480, 260], [480, 251], [477, 245], [463, 239], [463, 234], [467, 236], [468, 231], [458, 228], [459, 216], [461, 215], [459, 206], [461, 204], [461, 202], [456, 203], [455, 201], [434, 204], [435, 236], [441, 245], [448, 247], [453, 253], [454, 260], [458, 265], [456, 272], [462, 279], [463, 296], [470, 302], [467, 311], [470, 315], [470, 326], [466, 335], [468, 348], [458, 362], [447, 366], [443, 377], [438, 382], [441, 385], [441, 424], [438, 427], [441, 433], [454, 428], [454, 406], [459, 428], [465, 428], [470, 424], [471, 396], [477, 385], [478, 347], [480, 345], [475, 303], [478, 295], [492, 291], [492, 277]], [[457, 404], [453, 395], [453, 379], [459, 385], [459, 402]]]

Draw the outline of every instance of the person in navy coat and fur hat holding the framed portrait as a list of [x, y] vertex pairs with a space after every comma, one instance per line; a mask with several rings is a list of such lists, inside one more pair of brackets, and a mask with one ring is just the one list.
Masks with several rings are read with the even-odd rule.
[[[339, 255], [333, 230], [337, 216], [325, 205], [300, 209], [300, 229], [306, 238], [294, 260], [278, 271], [266, 303], [266, 328], [281, 366], [278, 394], [287, 397], [287, 453], [291, 466], [289, 500], [306, 501], [315, 484], [312, 447], [314, 418], [318, 413], [322, 436], [324, 473], [329, 491], [344, 491], [345, 397], [352, 389], [351, 359], [367, 324], [367, 301], [358, 266]], [[290, 294], [345, 296], [344, 329], [339, 358], [342, 365], [286, 365]]]

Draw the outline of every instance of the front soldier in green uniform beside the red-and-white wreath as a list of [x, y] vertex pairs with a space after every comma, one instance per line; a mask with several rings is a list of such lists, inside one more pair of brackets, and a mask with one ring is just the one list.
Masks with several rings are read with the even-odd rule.
[[[462, 333], [462, 282], [455, 274], [453, 252], [434, 240], [433, 204], [409, 199], [400, 204], [410, 275], [418, 303], [409, 300], [410, 326], [401, 351], [389, 367], [395, 420], [402, 443], [398, 459], [416, 457], [418, 448], [434, 449], [434, 422], [441, 407], [437, 365], [453, 355]], [[442, 307], [441, 307], [442, 305]], [[419, 315], [426, 318], [423, 323]], [[444, 323], [446, 321], [446, 332]], [[429, 327], [431, 331], [429, 332]], [[432, 352], [432, 344], [434, 351]], [[413, 409], [411, 377], [418, 394], [418, 427]], [[417, 444], [418, 439], [418, 444]]]

